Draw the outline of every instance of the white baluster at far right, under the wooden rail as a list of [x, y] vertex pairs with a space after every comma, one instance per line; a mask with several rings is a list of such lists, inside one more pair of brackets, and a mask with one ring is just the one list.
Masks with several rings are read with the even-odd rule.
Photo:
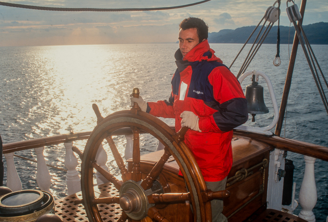
[[301, 188], [299, 190], [299, 204], [302, 207], [298, 216], [310, 222], [315, 222], [316, 218], [312, 209], [317, 203], [317, 187], [314, 179], [314, 163], [316, 158], [304, 156], [305, 171]]

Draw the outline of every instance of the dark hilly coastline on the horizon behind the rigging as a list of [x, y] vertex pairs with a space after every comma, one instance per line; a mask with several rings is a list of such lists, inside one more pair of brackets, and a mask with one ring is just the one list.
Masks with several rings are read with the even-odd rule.
[[[219, 32], [210, 32], [208, 36], [209, 43], [245, 43], [256, 26], [246, 26], [232, 29], [224, 29]], [[304, 32], [310, 44], [328, 44], [328, 22], [318, 22], [303, 26]], [[253, 43], [260, 30], [257, 28], [248, 43]], [[273, 26], [263, 44], [277, 44], [278, 26]], [[280, 44], [292, 44], [295, 34], [295, 28], [292, 25], [280, 26]], [[289, 41], [288, 41], [289, 36]]]

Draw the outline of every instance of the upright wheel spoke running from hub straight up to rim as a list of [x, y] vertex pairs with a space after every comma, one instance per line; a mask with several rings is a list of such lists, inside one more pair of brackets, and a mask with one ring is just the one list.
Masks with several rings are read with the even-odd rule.
[[132, 128], [133, 131], [133, 176], [136, 182], [141, 180], [141, 172], [140, 172], [140, 141], [139, 141], [139, 132], [140, 130], [136, 127]]

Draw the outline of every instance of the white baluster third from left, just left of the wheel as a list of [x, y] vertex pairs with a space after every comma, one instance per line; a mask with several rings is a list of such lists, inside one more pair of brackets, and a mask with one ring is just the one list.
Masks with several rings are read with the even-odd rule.
[[66, 173], [67, 193], [71, 195], [81, 191], [81, 179], [76, 170], [78, 162], [72, 151], [73, 142], [64, 143], [64, 146], [66, 148], [64, 164], [68, 170]]

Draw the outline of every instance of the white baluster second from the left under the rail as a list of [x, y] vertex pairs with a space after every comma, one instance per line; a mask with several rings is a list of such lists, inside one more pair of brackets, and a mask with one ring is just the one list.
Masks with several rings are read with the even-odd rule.
[[44, 147], [34, 148], [36, 153], [36, 183], [42, 191], [50, 192], [51, 177], [43, 155]]

